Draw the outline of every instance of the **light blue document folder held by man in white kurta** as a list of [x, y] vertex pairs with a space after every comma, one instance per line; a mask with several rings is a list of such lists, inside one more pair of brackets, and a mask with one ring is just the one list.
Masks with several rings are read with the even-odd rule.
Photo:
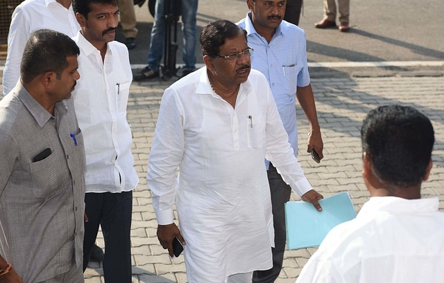
[[285, 203], [287, 249], [318, 246], [334, 226], [356, 217], [348, 192], [326, 197], [319, 203], [323, 208], [321, 212], [308, 202]]

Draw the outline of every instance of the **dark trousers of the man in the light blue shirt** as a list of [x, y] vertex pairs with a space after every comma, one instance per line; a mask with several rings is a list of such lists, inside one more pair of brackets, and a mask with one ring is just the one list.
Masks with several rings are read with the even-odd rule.
[[268, 183], [270, 184], [271, 206], [275, 228], [275, 247], [273, 253], [273, 268], [268, 271], [253, 272], [254, 283], [273, 283], [279, 277], [284, 261], [287, 235], [285, 230], [285, 203], [290, 200], [291, 187], [282, 180], [273, 164], [268, 167]]

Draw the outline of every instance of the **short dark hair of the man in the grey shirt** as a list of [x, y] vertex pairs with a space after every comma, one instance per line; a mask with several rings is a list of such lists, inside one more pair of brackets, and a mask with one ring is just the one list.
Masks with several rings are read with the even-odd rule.
[[56, 30], [35, 30], [24, 48], [20, 64], [22, 80], [29, 83], [47, 71], [56, 73], [60, 80], [68, 67], [67, 57], [79, 54], [80, 49], [69, 36]]

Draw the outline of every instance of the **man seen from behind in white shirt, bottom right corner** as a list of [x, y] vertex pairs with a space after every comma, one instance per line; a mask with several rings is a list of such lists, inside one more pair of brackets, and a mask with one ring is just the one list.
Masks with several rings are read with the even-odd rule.
[[296, 282], [443, 282], [444, 213], [438, 197], [421, 199], [433, 164], [432, 122], [413, 107], [377, 107], [361, 141], [370, 200], [327, 234]]

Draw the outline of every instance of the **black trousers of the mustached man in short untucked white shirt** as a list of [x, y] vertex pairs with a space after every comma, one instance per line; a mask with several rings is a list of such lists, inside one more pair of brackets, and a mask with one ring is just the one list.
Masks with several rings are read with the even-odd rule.
[[131, 283], [133, 192], [89, 192], [85, 194], [85, 213], [88, 221], [83, 240], [83, 271], [87, 268], [100, 225], [105, 240], [105, 283]]

